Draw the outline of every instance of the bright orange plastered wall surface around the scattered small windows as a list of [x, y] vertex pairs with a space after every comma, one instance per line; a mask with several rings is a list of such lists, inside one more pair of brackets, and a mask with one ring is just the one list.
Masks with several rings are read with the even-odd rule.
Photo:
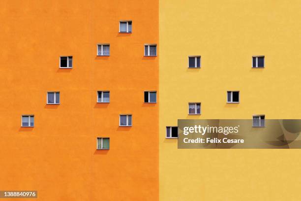
[[[158, 200], [158, 43], [153, 0], [2, 0], [0, 6], [0, 190], [37, 190], [49, 201]], [[132, 20], [133, 33], [118, 33]], [[96, 56], [110, 43], [109, 57]], [[59, 69], [60, 55], [73, 69]], [[110, 90], [110, 103], [96, 103]], [[60, 91], [60, 105], [46, 92]], [[119, 114], [133, 126], [119, 127]], [[21, 115], [34, 114], [34, 128]], [[96, 137], [110, 150], [96, 150]], [[30, 199], [29, 199], [30, 200]]]

